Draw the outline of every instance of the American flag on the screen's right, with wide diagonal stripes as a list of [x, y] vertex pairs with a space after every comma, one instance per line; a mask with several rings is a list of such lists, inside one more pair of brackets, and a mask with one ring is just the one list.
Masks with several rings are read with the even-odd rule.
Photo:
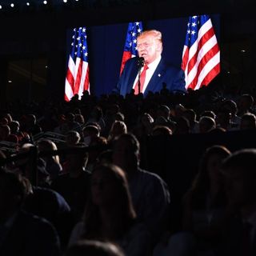
[[186, 89], [207, 86], [220, 72], [220, 50], [209, 15], [189, 18], [182, 53]]

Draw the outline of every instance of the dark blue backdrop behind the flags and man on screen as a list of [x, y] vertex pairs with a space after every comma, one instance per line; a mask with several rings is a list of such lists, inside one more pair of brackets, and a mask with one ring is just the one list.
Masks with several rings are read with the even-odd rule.
[[[220, 16], [219, 14], [212, 14], [210, 18], [220, 46]], [[188, 17], [142, 21], [143, 30], [154, 29], [162, 32], [162, 56], [168, 62], [179, 67], [182, 62], [182, 50], [186, 38], [187, 22]], [[81, 24], [81, 26], [86, 26], [86, 22], [85, 24]], [[110, 94], [117, 84], [127, 27], [128, 23], [86, 26], [91, 94], [96, 96]], [[67, 30], [66, 68], [70, 53], [72, 32], [73, 28]]]

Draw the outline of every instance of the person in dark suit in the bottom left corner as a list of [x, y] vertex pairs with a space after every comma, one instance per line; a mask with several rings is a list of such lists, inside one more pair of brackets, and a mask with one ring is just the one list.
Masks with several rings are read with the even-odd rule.
[[1, 172], [0, 191], [0, 254], [59, 256], [60, 242], [54, 226], [22, 211], [26, 195], [22, 176]]

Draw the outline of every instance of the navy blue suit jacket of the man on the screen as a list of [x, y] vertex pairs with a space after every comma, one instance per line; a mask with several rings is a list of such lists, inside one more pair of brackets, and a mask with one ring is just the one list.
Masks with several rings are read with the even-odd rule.
[[[126, 62], [115, 90], [119, 94], [122, 94], [123, 96], [130, 94], [130, 91], [134, 85], [134, 80], [138, 74], [137, 63], [138, 57], [130, 58]], [[184, 78], [185, 74], [183, 70], [166, 64], [162, 58], [157, 66], [157, 69], [154, 71], [148, 86], [146, 87], [144, 95], [146, 95], [149, 91], [152, 91], [153, 93], [160, 91], [163, 83], [166, 83], [166, 88], [170, 91], [181, 90], [186, 92]]]

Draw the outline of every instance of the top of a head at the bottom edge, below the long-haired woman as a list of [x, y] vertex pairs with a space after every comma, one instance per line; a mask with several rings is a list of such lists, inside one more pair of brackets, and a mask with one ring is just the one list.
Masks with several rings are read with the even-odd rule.
[[70, 246], [65, 256], [125, 256], [122, 249], [112, 242], [80, 240]]

